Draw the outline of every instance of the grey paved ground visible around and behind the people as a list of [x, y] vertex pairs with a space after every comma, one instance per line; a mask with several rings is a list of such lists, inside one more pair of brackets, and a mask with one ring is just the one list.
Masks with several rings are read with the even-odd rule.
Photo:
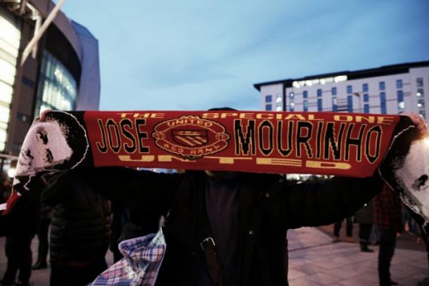
[[[373, 253], [362, 253], [357, 243], [332, 243], [331, 237], [324, 233], [328, 229], [332, 228], [300, 228], [289, 231], [290, 285], [378, 285], [378, 247], [371, 247], [374, 249]], [[32, 247], [33, 250], [37, 249], [37, 239], [33, 240]], [[397, 248], [395, 251], [391, 267], [392, 279], [398, 281], [399, 285], [414, 286], [428, 277], [428, 260], [421, 246], [416, 247], [420, 250], [406, 248]], [[112, 260], [109, 253], [108, 261], [111, 263]], [[5, 268], [4, 238], [0, 238], [1, 276]], [[33, 271], [32, 282], [34, 286], [49, 285], [49, 269]]]

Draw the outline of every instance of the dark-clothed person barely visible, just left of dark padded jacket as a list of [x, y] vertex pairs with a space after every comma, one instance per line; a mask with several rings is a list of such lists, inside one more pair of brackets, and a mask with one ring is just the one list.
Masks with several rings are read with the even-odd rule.
[[32, 267], [33, 270], [44, 269], [48, 267], [47, 258], [49, 251], [49, 225], [52, 219], [52, 209], [46, 204], [41, 203], [41, 217], [37, 238], [39, 239], [39, 247], [37, 252], [36, 264]]

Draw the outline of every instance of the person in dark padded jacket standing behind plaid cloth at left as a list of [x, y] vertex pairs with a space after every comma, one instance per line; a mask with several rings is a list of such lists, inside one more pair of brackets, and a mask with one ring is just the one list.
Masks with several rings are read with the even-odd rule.
[[65, 186], [45, 188], [41, 200], [53, 207], [51, 286], [87, 285], [107, 268], [110, 203], [76, 174]]

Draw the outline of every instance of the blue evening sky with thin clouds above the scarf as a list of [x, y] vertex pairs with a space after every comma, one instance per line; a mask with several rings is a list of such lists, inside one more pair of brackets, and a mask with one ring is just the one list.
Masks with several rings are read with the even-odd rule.
[[253, 84], [429, 60], [428, 0], [68, 0], [101, 110], [258, 110]]

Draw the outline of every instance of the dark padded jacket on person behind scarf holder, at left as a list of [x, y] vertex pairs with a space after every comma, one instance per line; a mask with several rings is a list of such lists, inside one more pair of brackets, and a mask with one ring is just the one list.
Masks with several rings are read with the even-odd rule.
[[51, 262], [88, 262], [104, 258], [110, 239], [110, 202], [81, 176], [45, 188], [42, 202], [52, 209]]

